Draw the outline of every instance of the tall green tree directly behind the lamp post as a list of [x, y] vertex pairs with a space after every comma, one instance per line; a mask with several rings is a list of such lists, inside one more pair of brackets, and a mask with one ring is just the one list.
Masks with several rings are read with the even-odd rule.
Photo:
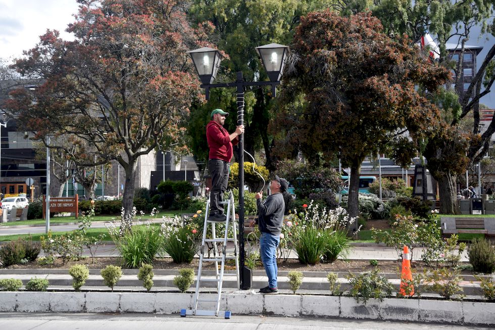
[[[189, 17], [196, 23], [210, 21], [215, 26], [218, 49], [229, 56], [222, 62], [223, 67], [215, 81], [233, 81], [236, 71], [242, 71], [246, 80], [266, 80], [265, 69], [255, 48], [271, 42], [290, 43], [301, 15], [328, 8], [333, 3], [333, 0], [193, 0]], [[254, 155], [255, 151], [263, 148], [265, 166], [269, 170], [275, 169], [272, 136], [268, 132], [268, 123], [273, 118], [272, 107], [268, 89], [245, 94], [245, 149]], [[215, 108], [231, 114], [224, 127], [229, 132], [233, 131], [237, 113], [234, 90], [212, 89], [210, 101], [191, 111], [188, 135], [193, 153], [200, 160], [208, 159], [206, 124]]]

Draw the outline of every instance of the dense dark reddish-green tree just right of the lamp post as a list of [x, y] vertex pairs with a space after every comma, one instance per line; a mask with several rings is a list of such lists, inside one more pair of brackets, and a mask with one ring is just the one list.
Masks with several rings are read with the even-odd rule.
[[348, 211], [356, 217], [364, 158], [405, 130], [417, 136], [436, 133], [438, 109], [415, 85], [434, 91], [448, 72], [429, 63], [407, 38], [397, 41], [384, 34], [370, 13], [349, 18], [329, 10], [308, 14], [292, 47], [291, 70], [272, 126], [281, 137], [279, 149], [294, 146], [308, 159], [338, 155], [351, 167]]

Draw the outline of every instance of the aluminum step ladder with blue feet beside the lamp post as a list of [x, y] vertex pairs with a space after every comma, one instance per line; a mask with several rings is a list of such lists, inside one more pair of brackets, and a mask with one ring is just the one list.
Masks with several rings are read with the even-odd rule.
[[[206, 316], [224, 316], [225, 318], [230, 318], [230, 311], [220, 311], [220, 302], [222, 297], [222, 285], [224, 276], [236, 276], [237, 277], [237, 290], [239, 290], [239, 258], [237, 255], [237, 227], [235, 221], [235, 208], [234, 208], [234, 195], [232, 191], [229, 193], [229, 198], [226, 201], [220, 202], [223, 205], [227, 205], [226, 219], [225, 221], [210, 221], [208, 216], [210, 214], [210, 199], [208, 199], [206, 204], [205, 212], [205, 223], [203, 226], [203, 240], [200, 247], [200, 264], [197, 270], [196, 279], [196, 291], [194, 294], [193, 309], [181, 309], [180, 316], [185, 317], [186, 315], [206, 315]], [[223, 238], [217, 238], [216, 228], [217, 224], [225, 224], [225, 234]], [[211, 226], [211, 238], [207, 238], [208, 227]], [[229, 226], [232, 230], [228, 230]], [[231, 233], [232, 237], [229, 237]], [[233, 255], [227, 255], [227, 243], [234, 243], [234, 253]], [[213, 258], [209, 258], [208, 255], [205, 256], [205, 252], [208, 253], [207, 243], [213, 243]], [[218, 255], [218, 244], [221, 244], [221, 253]], [[235, 260], [235, 274], [225, 273], [225, 261], [229, 259]], [[203, 278], [203, 262], [214, 262], [215, 263], [215, 278]], [[220, 271], [218, 270], [218, 263], [220, 262]], [[200, 296], [204, 295], [200, 293], [200, 283], [201, 282], [216, 282], [217, 283], [217, 298], [216, 299], [202, 299]], [[216, 303], [215, 310], [199, 309], [199, 305], [205, 303]]]

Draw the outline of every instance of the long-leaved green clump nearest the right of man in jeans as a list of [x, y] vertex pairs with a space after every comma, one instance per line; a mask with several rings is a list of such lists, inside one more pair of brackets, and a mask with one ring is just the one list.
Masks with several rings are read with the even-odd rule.
[[299, 261], [307, 265], [319, 263], [327, 252], [328, 236], [326, 231], [313, 226], [298, 230], [291, 242], [292, 248], [298, 253]]

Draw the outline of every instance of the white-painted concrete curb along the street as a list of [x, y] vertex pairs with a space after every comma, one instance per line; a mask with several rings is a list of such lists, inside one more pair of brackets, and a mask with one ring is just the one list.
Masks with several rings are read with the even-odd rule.
[[[210, 294], [214, 298], [216, 294]], [[190, 309], [191, 293], [0, 292], [3, 312], [178, 313]], [[233, 315], [318, 316], [415, 322], [492, 325], [495, 304], [426, 299], [268, 295], [254, 291], [222, 294], [221, 310]], [[201, 306], [213, 309], [212, 306]]]

